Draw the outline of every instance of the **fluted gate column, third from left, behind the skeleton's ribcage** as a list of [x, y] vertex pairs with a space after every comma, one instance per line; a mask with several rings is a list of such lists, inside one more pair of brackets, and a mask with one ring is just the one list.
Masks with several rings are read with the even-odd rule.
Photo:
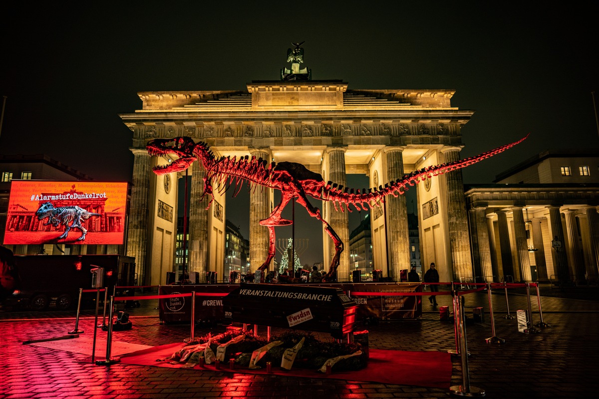
[[[256, 159], [262, 158], [270, 163], [272, 157], [269, 148], [250, 148], [250, 158], [255, 156]], [[267, 163], [267, 165], [268, 165]], [[250, 264], [251, 270], [257, 270], [262, 266], [262, 263], [268, 257], [268, 227], [260, 226], [259, 222], [270, 216], [271, 189], [258, 187], [250, 192]], [[288, 206], [292, 206], [289, 203]], [[292, 266], [292, 260], [289, 259], [289, 264]], [[268, 269], [270, 269], [270, 266]]]

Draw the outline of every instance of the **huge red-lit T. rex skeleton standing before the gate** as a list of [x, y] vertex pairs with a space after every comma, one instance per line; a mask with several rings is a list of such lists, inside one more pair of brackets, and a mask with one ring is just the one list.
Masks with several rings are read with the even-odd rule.
[[[344, 207], [347, 208], [347, 211], [352, 212], [350, 206], [358, 209], [358, 211], [367, 211], [373, 208], [373, 206], [380, 206], [389, 194], [395, 197], [404, 194], [404, 191], [407, 190], [407, 185], [414, 185], [420, 181], [425, 181], [426, 178], [430, 178], [431, 176], [437, 176], [450, 170], [473, 165], [519, 144], [524, 139], [526, 137], [475, 157], [415, 170], [402, 179], [385, 184], [385, 187], [379, 186], [374, 189], [362, 189], [362, 191], [347, 187], [343, 188], [342, 185], [337, 185], [337, 183], [331, 181], [325, 184], [324, 179], [319, 173], [311, 172], [304, 165], [295, 162], [268, 163], [267, 160], [262, 158], [256, 159], [255, 156], [252, 156], [251, 159], [248, 156], [241, 157], [238, 160], [235, 157], [220, 157], [216, 159], [207, 144], [204, 142], [196, 143], [189, 137], [153, 139], [147, 144], [147, 150], [150, 155], [165, 156], [167, 154], [176, 154], [179, 156], [179, 159], [169, 165], [156, 166], [154, 172], [157, 175], [180, 172], [187, 169], [195, 160], [199, 159], [206, 170], [202, 198], [206, 194], [210, 194], [211, 198], [208, 207], [210, 207], [210, 203], [214, 199], [212, 191], [213, 180], [219, 182], [220, 187], [223, 187], [224, 190], [228, 189], [232, 182], [235, 181], [235, 184], [239, 186], [237, 188], [238, 192], [243, 182], [247, 181], [250, 185], [262, 185], [281, 191], [281, 202], [279, 205], [274, 208], [267, 219], [260, 221], [262, 226], [268, 227], [270, 241], [268, 256], [262, 266], [259, 267], [259, 270], [265, 270], [275, 255], [274, 227], [286, 226], [292, 223], [291, 220], [281, 217], [283, 209], [291, 199], [297, 199], [297, 202], [304, 206], [311, 217], [317, 218], [322, 222], [325, 226], [325, 231], [331, 236], [335, 244], [335, 255], [331, 260], [329, 272], [323, 278], [325, 281], [330, 281], [335, 270], [337, 270], [337, 266], [339, 266], [340, 254], [343, 251], [343, 242], [332, 227], [322, 218], [320, 210], [310, 204], [308, 196], [317, 200], [331, 201], [335, 206], [335, 210], [340, 208], [341, 212], [344, 212]], [[225, 184], [227, 179], [229, 179], [229, 182]], [[339, 205], [338, 207], [337, 204]]]

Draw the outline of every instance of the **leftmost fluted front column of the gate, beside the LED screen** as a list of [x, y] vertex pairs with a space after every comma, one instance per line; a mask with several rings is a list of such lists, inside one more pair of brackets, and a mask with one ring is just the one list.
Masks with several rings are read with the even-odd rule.
[[127, 255], [135, 258], [137, 284], [146, 285], [146, 254], [148, 242], [148, 212], [150, 190], [150, 154], [146, 148], [131, 148], [133, 153], [133, 181], [131, 187], [131, 206], [127, 227]]

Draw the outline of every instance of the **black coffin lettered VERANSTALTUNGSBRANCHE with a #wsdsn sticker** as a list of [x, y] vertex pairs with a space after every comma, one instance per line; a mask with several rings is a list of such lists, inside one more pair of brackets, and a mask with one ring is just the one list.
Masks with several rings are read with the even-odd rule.
[[241, 284], [223, 299], [225, 319], [246, 324], [329, 333], [353, 331], [356, 304], [338, 288]]

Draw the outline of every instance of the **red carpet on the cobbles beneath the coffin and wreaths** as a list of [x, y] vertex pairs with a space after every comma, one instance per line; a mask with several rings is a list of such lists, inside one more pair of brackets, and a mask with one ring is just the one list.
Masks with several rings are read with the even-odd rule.
[[[179, 351], [183, 346], [183, 343], [155, 346], [150, 349], [143, 349], [131, 354], [122, 355], [120, 361], [121, 363], [137, 364], [139, 366], [181, 368], [183, 364], [170, 364], [164, 361], [157, 362], [156, 359], [167, 358], [174, 352]], [[249, 370], [247, 368], [236, 367], [234, 370], [231, 370], [228, 363], [221, 364], [220, 370], [215, 370], [214, 364], [204, 367], [196, 366], [193, 370], [267, 374], [267, 371], [262, 368]], [[279, 367], [273, 367], [272, 374], [449, 389], [452, 363], [451, 355], [446, 352], [383, 351], [381, 349], [370, 348], [368, 366], [362, 370], [323, 374], [314, 370], [292, 369], [291, 371], [286, 371], [281, 370]]]

